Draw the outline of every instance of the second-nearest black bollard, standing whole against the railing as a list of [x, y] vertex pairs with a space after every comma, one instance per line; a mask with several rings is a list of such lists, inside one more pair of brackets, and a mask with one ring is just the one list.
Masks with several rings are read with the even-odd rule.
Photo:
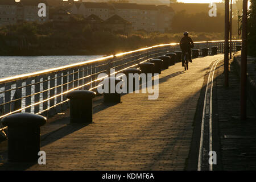
[[95, 96], [96, 93], [89, 90], [75, 90], [67, 94], [71, 123], [92, 123], [92, 99]]

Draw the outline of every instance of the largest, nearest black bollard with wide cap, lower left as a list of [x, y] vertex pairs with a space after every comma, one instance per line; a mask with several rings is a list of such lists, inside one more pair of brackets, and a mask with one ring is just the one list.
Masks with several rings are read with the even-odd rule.
[[40, 151], [40, 126], [46, 124], [42, 115], [17, 113], [2, 119], [8, 126], [9, 162], [36, 162]]

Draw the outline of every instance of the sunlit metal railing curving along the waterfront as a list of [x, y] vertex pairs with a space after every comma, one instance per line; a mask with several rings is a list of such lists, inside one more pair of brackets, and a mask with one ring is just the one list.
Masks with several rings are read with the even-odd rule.
[[[233, 41], [233, 51], [240, 42]], [[218, 53], [224, 53], [224, 41], [195, 42], [195, 48], [199, 49], [213, 46], [218, 46]], [[0, 119], [19, 112], [51, 117], [68, 109], [68, 92], [86, 89], [97, 93], [98, 84], [105, 78], [98, 78], [100, 73], [107, 73], [109, 76], [111, 68], [115, 69], [115, 73], [131, 67], [137, 68], [143, 61], [178, 50], [180, 48], [177, 43], [161, 44], [59, 68], [2, 78]]]

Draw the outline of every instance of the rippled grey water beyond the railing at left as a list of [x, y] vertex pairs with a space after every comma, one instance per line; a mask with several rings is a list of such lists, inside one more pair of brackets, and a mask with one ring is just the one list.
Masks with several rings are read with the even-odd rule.
[[0, 56], [0, 78], [32, 73], [102, 56]]

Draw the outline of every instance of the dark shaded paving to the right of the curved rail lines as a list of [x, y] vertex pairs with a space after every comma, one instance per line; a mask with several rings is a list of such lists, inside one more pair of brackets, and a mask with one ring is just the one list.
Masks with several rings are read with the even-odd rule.
[[224, 88], [223, 61], [217, 70], [218, 131], [224, 170], [256, 169], [256, 109], [247, 101], [247, 120], [240, 121], [240, 77], [230, 60], [229, 88]]

